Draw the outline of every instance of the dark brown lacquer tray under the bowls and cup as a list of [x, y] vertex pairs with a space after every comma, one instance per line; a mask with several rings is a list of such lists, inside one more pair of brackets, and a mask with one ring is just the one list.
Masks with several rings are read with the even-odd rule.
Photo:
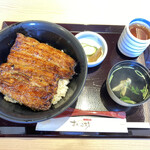
[[[3, 22], [3, 28], [15, 22]], [[150, 122], [150, 102], [144, 105], [128, 108], [117, 105], [109, 97], [106, 90], [106, 78], [111, 67], [122, 60], [131, 60], [123, 56], [118, 48], [117, 41], [124, 28], [118, 25], [83, 25], [83, 24], [59, 24], [77, 34], [81, 31], [94, 31], [101, 34], [108, 44], [108, 55], [97, 67], [88, 69], [85, 87], [72, 108], [91, 111], [125, 111], [127, 122]], [[140, 63], [146, 62], [149, 68], [150, 46], [139, 58], [132, 60]], [[145, 57], [144, 57], [145, 56]], [[145, 58], [145, 60], [144, 60]], [[142, 61], [141, 61], [142, 60]], [[150, 68], [149, 68], [150, 69]], [[148, 128], [129, 128], [128, 133], [85, 133], [85, 132], [43, 132], [35, 131], [36, 124], [19, 124], [0, 119], [0, 137], [78, 137], [78, 138], [150, 138]], [[111, 126], [110, 126], [111, 127]]]

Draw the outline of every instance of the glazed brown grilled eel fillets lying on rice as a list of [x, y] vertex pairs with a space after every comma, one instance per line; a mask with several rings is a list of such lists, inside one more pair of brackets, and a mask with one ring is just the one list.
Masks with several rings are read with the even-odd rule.
[[0, 91], [33, 110], [48, 110], [58, 80], [71, 79], [75, 65], [64, 52], [18, 33], [0, 66]]

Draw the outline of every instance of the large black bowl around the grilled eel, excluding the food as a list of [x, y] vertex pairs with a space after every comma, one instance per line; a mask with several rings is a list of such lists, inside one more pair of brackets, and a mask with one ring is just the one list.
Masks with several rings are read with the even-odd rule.
[[7, 61], [17, 33], [63, 50], [76, 61], [76, 74], [70, 80], [66, 96], [47, 111], [33, 111], [23, 105], [7, 102], [4, 100], [4, 95], [0, 94], [0, 117], [17, 123], [36, 123], [53, 118], [71, 106], [84, 87], [87, 76], [87, 59], [84, 50], [74, 35], [60, 25], [46, 21], [25, 21], [1, 30], [0, 64]]

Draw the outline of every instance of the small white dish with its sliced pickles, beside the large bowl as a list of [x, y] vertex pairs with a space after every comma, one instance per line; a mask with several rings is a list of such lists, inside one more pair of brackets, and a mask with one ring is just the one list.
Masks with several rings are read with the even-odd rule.
[[105, 59], [108, 53], [108, 46], [100, 34], [92, 31], [83, 31], [76, 34], [75, 37], [85, 51], [88, 67], [95, 67]]

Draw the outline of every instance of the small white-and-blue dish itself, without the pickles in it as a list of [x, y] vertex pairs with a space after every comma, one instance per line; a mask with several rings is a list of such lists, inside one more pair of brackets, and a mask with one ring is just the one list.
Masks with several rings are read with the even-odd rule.
[[94, 62], [88, 61], [88, 67], [95, 67], [99, 65], [105, 59], [108, 53], [108, 46], [107, 46], [105, 39], [101, 35], [92, 31], [83, 31], [83, 32], [76, 34], [75, 37], [79, 40], [82, 46], [83, 46], [83, 43], [84, 44], [86, 43], [87, 45], [91, 46], [91, 51], [90, 49], [87, 50], [85, 49], [85, 47], [83, 47], [87, 55], [87, 60], [88, 60], [88, 55], [91, 55], [92, 53], [94, 53], [93, 47], [94, 48], [96, 47], [96, 49], [101, 48], [102, 50], [102, 54], [100, 55], [100, 57], [97, 58], [96, 61]]

